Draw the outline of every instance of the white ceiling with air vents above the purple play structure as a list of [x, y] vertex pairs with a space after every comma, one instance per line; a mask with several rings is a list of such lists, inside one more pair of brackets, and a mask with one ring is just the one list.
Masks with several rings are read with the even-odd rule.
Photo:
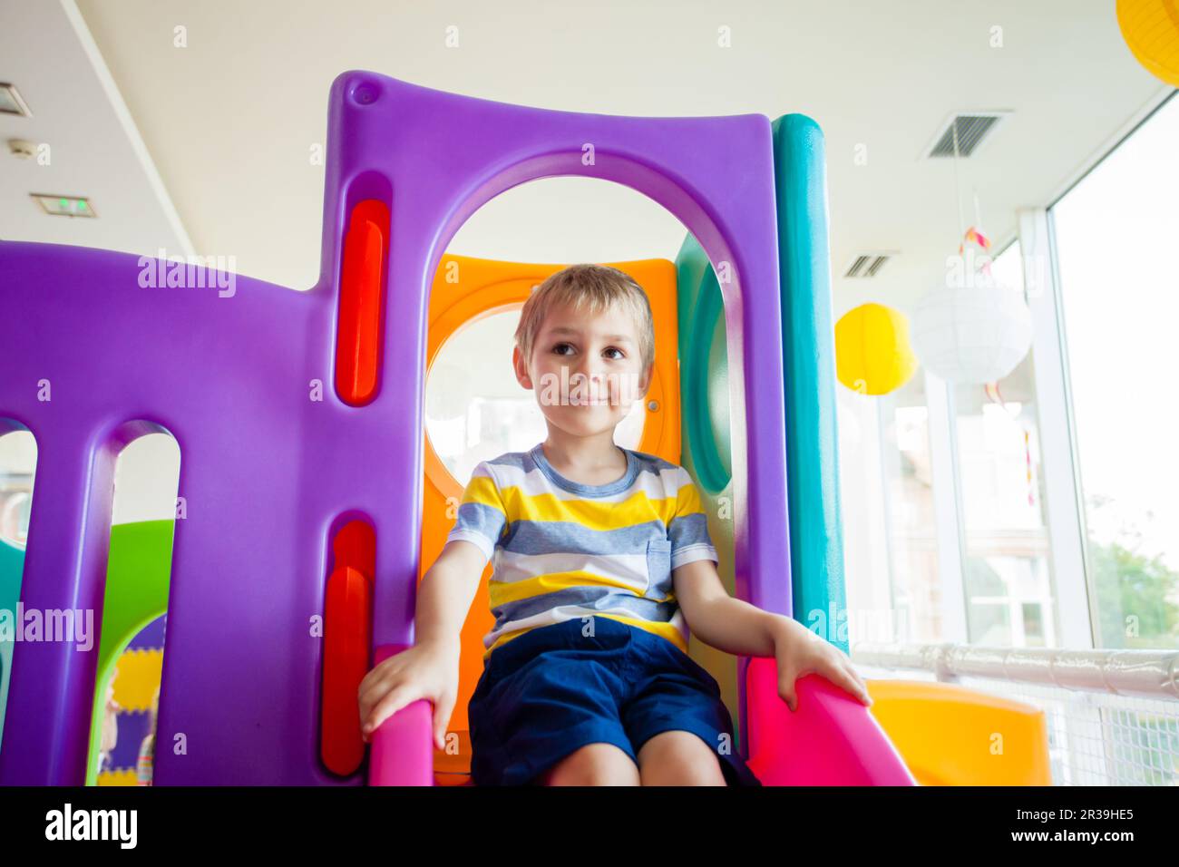
[[[0, 133], [48, 140], [54, 153], [50, 168], [0, 155], [0, 236], [154, 252], [183, 249], [186, 230], [197, 252], [299, 289], [318, 274], [323, 169], [310, 152], [325, 138], [331, 80], [349, 68], [568, 111], [809, 114], [826, 136], [839, 310], [869, 298], [907, 307], [956, 249], [951, 163], [921, 158], [951, 112], [1014, 112], [959, 169], [968, 219], [976, 190], [1002, 243], [1016, 208], [1050, 202], [1170, 92], [1125, 47], [1109, 0], [79, 0], [81, 33], [72, 0], [0, 8], [0, 80], [35, 114], [0, 116]], [[459, 47], [446, 47], [448, 26]], [[723, 26], [732, 47], [717, 45]], [[1002, 47], [990, 46], [996, 26]], [[87, 55], [87, 27], [105, 67]], [[104, 68], [117, 94], [104, 92]], [[119, 94], [133, 123], [119, 120]], [[41, 216], [31, 191], [88, 195], [100, 218]], [[565, 178], [493, 201], [450, 250], [673, 258], [683, 236], [638, 193]], [[878, 277], [839, 276], [856, 251], [878, 249], [900, 250]]]

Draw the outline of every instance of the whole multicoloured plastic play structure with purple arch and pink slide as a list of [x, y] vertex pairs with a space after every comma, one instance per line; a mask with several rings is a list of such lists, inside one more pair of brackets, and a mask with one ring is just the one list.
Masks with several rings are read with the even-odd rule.
[[[22, 314], [0, 321], [0, 434], [26, 429], [38, 445], [27, 547], [0, 551], [0, 607], [19, 596], [26, 610], [93, 609], [103, 623], [101, 655], [13, 648], [2, 784], [86, 779], [95, 682], [165, 610], [156, 784], [428, 786], [447, 768], [463, 781], [461, 762], [435, 754], [427, 702], [387, 721], [365, 757], [356, 684], [413, 644], [416, 583], [448, 528], [439, 504], [461, 491], [424, 435], [429, 364], [463, 323], [519, 304], [561, 267], [446, 256], [447, 244], [485, 203], [539, 178], [627, 185], [687, 229], [674, 264], [617, 264], [657, 314], [640, 449], [687, 466], [710, 507], [731, 500], [717, 533], [735, 595], [804, 622], [845, 609], [812, 120], [578, 114], [353, 71], [331, 86], [328, 129], [309, 291], [238, 275], [232, 297], [144, 288], [134, 255], [0, 243], [0, 303]], [[440, 278], [452, 263], [457, 285]], [[731, 364], [717, 361], [725, 349]], [[718, 364], [732, 394], [719, 434]], [[114, 459], [146, 433], [179, 446], [185, 515], [117, 528], [112, 543]], [[170, 578], [116, 570], [136, 545], [170, 545]], [[463, 630], [460, 729], [482, 593]], [[917, 782], [872, 714], [826, 681], [802, 678], [791, 714], [772, 658], [740, 658], [727, 679], [739, 748], [764, 783]]]

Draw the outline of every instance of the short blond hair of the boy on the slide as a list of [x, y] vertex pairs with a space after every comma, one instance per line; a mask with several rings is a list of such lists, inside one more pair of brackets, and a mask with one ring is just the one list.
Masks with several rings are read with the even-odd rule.
[[515, 333], [515, 342], [525, 363], [532, 361], [532, 350], [545, 316], [554, 307], [564, 304], [571, 304], [578, 313], [591, 316], [621, 304], [634, 320], [644, 372], [654, 363], [656, 328], [647, 294], [630, 275], [610, 265], [595, 264], [561, 269], [536, 287], [525, 302]]

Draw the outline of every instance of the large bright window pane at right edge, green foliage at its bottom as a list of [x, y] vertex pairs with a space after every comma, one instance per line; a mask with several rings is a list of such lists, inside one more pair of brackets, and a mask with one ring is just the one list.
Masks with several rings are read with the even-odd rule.
[[1102, 648], [1179, 646], [1179, 100], [1050, 211]]

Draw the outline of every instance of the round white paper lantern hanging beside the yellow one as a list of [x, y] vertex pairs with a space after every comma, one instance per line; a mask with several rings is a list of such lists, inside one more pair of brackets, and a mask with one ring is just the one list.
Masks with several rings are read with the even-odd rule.
[[910, 322], [921, 363], [948, 382], [997, 382], [1032, 346], [1022, 293], [1000, 285], [935, 289], [917, 302]]

